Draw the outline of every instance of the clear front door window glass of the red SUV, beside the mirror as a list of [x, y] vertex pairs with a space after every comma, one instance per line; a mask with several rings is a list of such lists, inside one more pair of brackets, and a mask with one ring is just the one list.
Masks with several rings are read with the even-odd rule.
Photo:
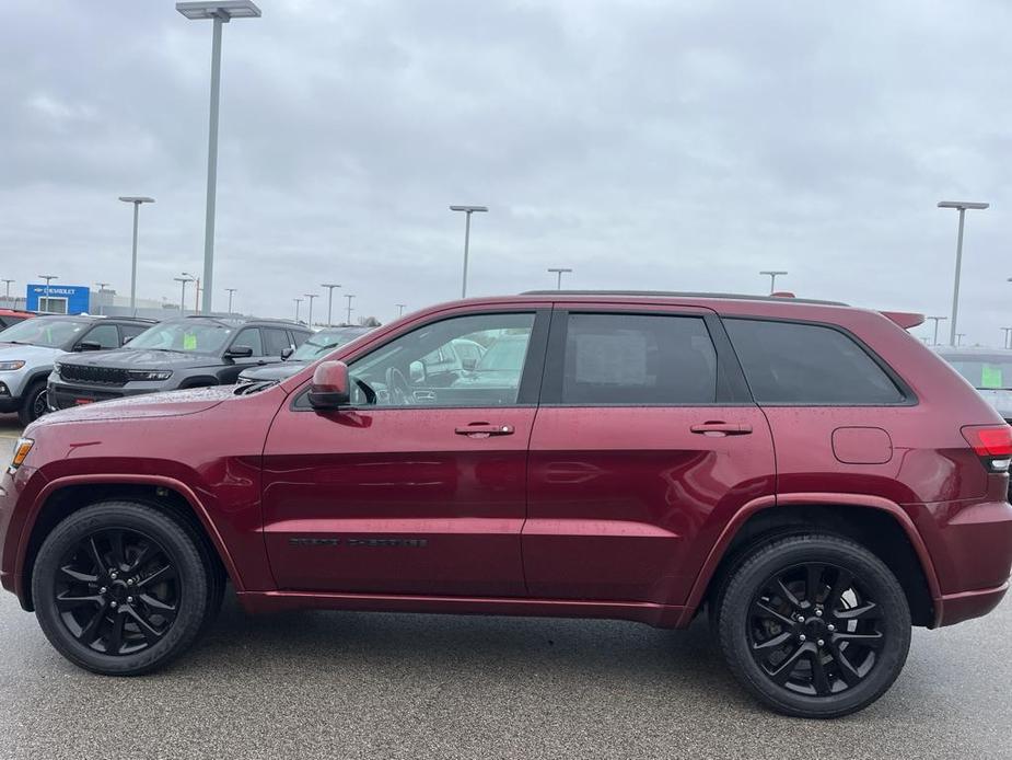
[[[517, 403], [534, 314], [457, 316], [402, 335], [350, 367], [356, 404], [377, 406], [503, 406]], [[510, 345], [495, 368], [467, 369], [453, 348], [465, 339], [485, 348]]]

